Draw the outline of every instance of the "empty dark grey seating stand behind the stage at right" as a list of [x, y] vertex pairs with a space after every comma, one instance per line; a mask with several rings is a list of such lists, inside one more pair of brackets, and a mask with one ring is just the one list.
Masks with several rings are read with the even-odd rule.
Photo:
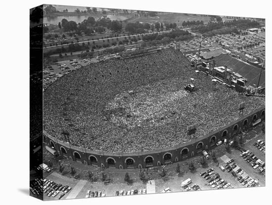
[[[261, 72], [261, 68], [250, 65], [246, 62], [243, 62], [237, 58], [231, 57], [230, 55], [222, 53], [218, 57], [215, 58], [216, 66], [225, 66], [231, 69], [235, 73], [239, 73], [243, 77], [247, 78], [246, 85], [256, 87], [258, 85], [259, 76]], [[259, 87], [266, 86], [266, 75], [265, 70], [262, 71]]]

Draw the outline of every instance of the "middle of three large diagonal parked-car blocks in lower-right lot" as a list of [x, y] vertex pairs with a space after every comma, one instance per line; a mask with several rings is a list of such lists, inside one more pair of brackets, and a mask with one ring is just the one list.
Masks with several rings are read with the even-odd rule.
[[248, 176], [237, 164], [234, 162], [234, 159], [230, 159], [224, 165], [220, 166], [222, 171], [227, 171], [232, 174], [236, 180], [245, 187], [254, 187], [257, 185], [258, 181], [252, 179]]

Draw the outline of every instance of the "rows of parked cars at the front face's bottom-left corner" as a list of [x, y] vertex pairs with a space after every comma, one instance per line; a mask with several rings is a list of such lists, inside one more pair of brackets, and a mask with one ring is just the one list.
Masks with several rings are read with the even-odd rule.
[[69, 186], [64, 186], [62, 184], [57, 184], [53, 182], [52, 180], [43, 180], [43, 192], [48, 196], [48, 197], [56, 197], [58, 194], [60, 194], [58, 199], [63, 198], [63, 196], [68, 193], [72, 188]]

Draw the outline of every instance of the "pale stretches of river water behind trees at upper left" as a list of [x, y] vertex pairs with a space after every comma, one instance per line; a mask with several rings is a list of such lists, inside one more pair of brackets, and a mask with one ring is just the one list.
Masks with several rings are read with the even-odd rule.
[[[45, 17], [44, 23], [57, 25], [58, 22], [61, 22], [63, 18], [68, 21], [75, 21], [76, 23], [81, 23], [84, 19], [87, 19], [91, 15], [83, 15], [83, 16], [55, 16], [55, 17]], [[125, 20], [128, 17], [120, 16], [120, 15], [107, 15], [111, 20]], [[98, 20], [98, 17], [94, 17], [95, 20]]]

